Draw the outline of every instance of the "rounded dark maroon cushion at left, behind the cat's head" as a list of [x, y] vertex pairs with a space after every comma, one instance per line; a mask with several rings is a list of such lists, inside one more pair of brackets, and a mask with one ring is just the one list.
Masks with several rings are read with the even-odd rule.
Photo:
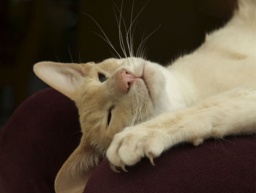
[[53, 88], [26, 99], [0, 134], [0, 192], [54, 192], [79, 139], [74, 102]]

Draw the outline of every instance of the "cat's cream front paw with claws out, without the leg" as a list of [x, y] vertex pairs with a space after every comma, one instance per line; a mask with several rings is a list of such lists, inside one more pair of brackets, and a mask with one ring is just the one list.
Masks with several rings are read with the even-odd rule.
[[123, 169], [124, 165], [136, 164], [143, 156], [147, 156], [154, 164], [153, 158], [162, 154], [168, 142], [168, 135], [157, 129], [127, 127], [113, 137], [106, 156], [110, 164]]

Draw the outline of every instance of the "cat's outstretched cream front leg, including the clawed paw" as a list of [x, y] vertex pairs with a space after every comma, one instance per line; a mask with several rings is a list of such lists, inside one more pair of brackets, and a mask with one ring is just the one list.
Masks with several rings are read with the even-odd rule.
[[153, 157], [177, 143], [199, 145], [208, 137], [255, 133], [255, 124], [256, 86], [244, 86], [127, 127], [113, 137], [107, 157], [113, 165], [123, 168], [143, 156], [153, 163]]

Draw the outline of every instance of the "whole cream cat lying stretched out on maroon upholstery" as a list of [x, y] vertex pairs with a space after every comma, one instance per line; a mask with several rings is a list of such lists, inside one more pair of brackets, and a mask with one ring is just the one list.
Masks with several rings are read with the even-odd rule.
[[61, 167], [56, 192], [83, 192], [105, 156], [113, 170], [182, 142], [256, 132], [256, 1], [193, 53], [168, 67], [143, 58], [99, 64], [42, 61], [34, 72], [75, 101], [83, 136]]

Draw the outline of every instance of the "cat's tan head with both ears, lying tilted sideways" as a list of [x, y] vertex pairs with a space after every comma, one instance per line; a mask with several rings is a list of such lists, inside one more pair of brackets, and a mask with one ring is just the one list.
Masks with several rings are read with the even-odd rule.
[[34, 72], [75, 101], [80, 114], [83, 137], [61, 168], [57, 189], [74, 186], [70, 176], [83, 181], [83, 172], [98, 164], [117, 132], [166, 107], [165, 69], [141, 58], [110, 58], [99, 64], [44, 61], [34, 65]]

